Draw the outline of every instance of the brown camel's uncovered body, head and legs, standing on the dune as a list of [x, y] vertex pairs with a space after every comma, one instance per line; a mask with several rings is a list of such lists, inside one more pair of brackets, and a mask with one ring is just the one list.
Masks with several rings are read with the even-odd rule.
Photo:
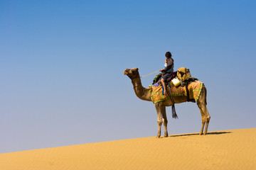
[[[142, 81], [139, 76], [139, 69], [124, 69], [124, 75], [127, 75], [131, 80], [134, 86], [134, 92], [138, 98], [143, 101], [152, 101], [151, 99], [151, 88], [144, 88], [142, 86]], [[183, 103], [186, 102], [186, 98], [182, 98], [181, 96], [173, 97], [174, 103]], [[161, 101], [159, 103], [155, 103], [156, 114], [157, 114], [157, 123], [158, 123], [158, 132], [156, 137], [161, 137], [161, 125], [164, 123], [164, 137], [168, 137], [167, 131], [167, 117], [166, 117], [166, 107], [174, 106], [174, 103], [171, 101], [171, 98], [168, 97], [165, 101]], [[201, 111], [202, 117], [202, 127], [199, 135], [206, 135], [208, 130], [208, 125], [210, 122], [210, 115], [206, 108], [206, 86], [203, 85], [201, 94], [196, 101], [198, 108]], [[205, 127], [206, 125], [206, 127]], [[205, 131], [203, 132], [203, 128], [205, 127]]]

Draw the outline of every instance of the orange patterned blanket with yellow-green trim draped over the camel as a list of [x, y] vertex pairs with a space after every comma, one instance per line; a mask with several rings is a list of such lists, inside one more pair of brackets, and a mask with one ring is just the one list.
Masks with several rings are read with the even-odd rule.
[[[174, 86], [174, 84], [171, 85], [171, 96], [188, 96], [186, 92], [186, 86]], [[194, 99], [195, 101], [198, 100], [199, 95], [201, 94], [201, 90], [203, 87], [203, 83], [201, 81], [193, 81], [190, 84], [188, 84], [188, 91], [189, 91], [189, 98]], [[158, 83], [151, 86], [152, 92], [151, 92], [151, 99], [154, 103], [158, 103], [160, 101], [165, 101], [167, 99], [167, 96], [169, 96], [169, 88], [167, 93], [164, 94], [164, 88], [159, 85]]]

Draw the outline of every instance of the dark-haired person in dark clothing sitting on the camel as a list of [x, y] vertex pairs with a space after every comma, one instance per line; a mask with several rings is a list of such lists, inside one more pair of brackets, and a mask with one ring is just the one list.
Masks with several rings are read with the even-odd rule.
[[166, 93], [166, 84], [164, 81], [166, 81], [171, 72], [174, 72], [174, 59], [171, 58], [171, 52], [166, 52], [166, 60], [164, 64], [164, 69], [160, 69], [159, 72], [162, 73], [161, 77], [161, 84], [164, 86], [164, 94]]

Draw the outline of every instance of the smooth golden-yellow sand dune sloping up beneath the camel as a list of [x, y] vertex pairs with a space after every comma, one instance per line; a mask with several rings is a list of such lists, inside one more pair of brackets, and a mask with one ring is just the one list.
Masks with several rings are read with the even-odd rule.
[[0, 154], [1, 170], [256, 169], [256, 128]]

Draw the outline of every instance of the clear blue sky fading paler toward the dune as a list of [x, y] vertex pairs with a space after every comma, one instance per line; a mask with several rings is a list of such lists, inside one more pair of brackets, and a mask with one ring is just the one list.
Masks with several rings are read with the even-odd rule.
[[[255, 128], [255, 1], [0, 1], [0, 153], [155, 136], [141, 75], [188, 67], [206, 84], [209, 131]], [[147, 87], [154, 75], [142, 79]], [[199, 132], [195, 103], [169, 135]]]

